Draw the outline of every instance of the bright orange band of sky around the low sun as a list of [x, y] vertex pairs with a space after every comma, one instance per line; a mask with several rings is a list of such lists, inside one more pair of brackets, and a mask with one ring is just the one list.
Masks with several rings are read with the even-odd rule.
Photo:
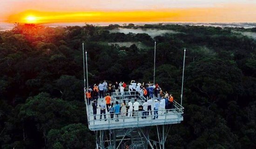
[[[76, 8], [75, 6], [66, 10], [64, 7], [56, 6], [56, 9], [51, 11], [45, 6], [42, 6], [41, 9], [15, 7], [15, 11], [6, 11], [2, 16], [0, 15], [0, 19], [8, 23], [40, 24], [65, 22], [256, 22], [256, 3], [254, 2], [251, 4], [226, 3], [201, 7], [177, 6], [176, 8], [146, 6], [147, 9], [140, 9], [140, 7], [132, 9], [125, 7], [123, 10], [114, 7], [103, 10], [104, 7], [96, 9], [88, 6], [87, 11], [82, 11], [82, 7]], [[19, 9], [21, 10], [20, 13]]]

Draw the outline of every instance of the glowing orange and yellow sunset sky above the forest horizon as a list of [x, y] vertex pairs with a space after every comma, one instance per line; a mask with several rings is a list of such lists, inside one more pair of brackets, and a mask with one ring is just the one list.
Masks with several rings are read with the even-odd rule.
[[[18, 0], [11, 11], [0, 10], [0, 20], [7, 23], [70, 23], [70, 22], [256, 22], [256, 2], [232, 3], [231, 1], [205, 2], [196, 5], [189, 0], [182, 0], [184, 5], [168, 1], [153, 1], [148, 5], [134, 0], [132, 5], [119, 0], [117, 4], [107, 1], [86, 4], [79, 0], [67, 2], [39, 0], [37, 5], [26, 0], [26, 5]], [[48, 1], [48, 0], [47, 0]], [[200, 1], [200, 0], [198, 0]], [[76, 2], [76, 3], [75, 3]], [[149, 3], [149, 2], [148, 2]], [[33, 6], [32, 6], [33, 4]], [[130, 4], [130, 2], [129, 2]], [[173, 5], [169, 5], [173, 4]], [[188, 4], [188, 5], [185, 5]], [[10, 7], [6, 6], [6, 8]], [[14, 7], [15, 6], [15, 7]], [[1, 13], [1, 11], [3, 13]]]

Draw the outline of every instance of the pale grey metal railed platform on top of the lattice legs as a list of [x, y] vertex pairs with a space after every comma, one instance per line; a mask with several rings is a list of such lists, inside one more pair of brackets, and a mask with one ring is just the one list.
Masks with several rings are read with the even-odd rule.
[[[135, 94], [135, 93], [131, 93]], [[126, 103], [128, 104], [128, 99], [131, 100], [132, 103], [134, 103], [134, 99], [136, 98], [136, 95], [130, 95], [129, 92], [124, 92], [123, 95], [121, 95], [120, 92], [113, 93], [112, 94], [112, 103], [115, 103], [115, 101], [118, 101], [120, 104], [122, 103], [123, 99], [126, 100]], [[137, 101], [140, 103], [140, 105], [143, 104], [146, 98], [143, 96], [137, 96]], [[105, 98], [99, 98], [98, 99], [98, 105], [101, 104], [101, 100], [103, 100], [103, 103], [105, 104]], [[155, 104], [155, 101], [153, 99], [153, 104]], [[152, 106], [152, 109], [154, 106]], [[138, 111], [137, 116], [135, 117], [128, 117], [123, 116], [121, 117], [121, 114], [119, 114], [119, 122], [115, 121], [114, 119], [110, 118], [109, 112], [106, 110], [106, 120], [104, 119], [104, 116], [102, 115], [102, 119], [100, 120], [100, 109], [97, 109], [97, 115], [96, 120], [94, 120], [93, 115], [93, 109], [92, 105], [87, 106], [87, 113], [88, 113], [88, 127], [90, 130], [113, 130], [113, 129], [126, 129], [126, 128], [139, 128], [139, 127], [146, 127], [146, 126], [155, 126], [155, 125], [166, 125], [166, 124], [174, 124], [174, 123], [181, 123], [183, 121], [183, 107], [174, 101], [174, 109], [169, 110], [166, 113], [166, 110], [158, 110], [158, 118], [153, 119], [154, 117], [154, 111], [152, 110], [149, 112], [149, 115], [146, 116], [147, 118], [141, 118], [142, 117], [142, 111]]]

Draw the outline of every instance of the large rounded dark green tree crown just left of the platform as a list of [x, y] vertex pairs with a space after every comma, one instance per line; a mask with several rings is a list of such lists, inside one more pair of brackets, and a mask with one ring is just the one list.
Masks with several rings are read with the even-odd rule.
[[[29, 134], [29, 125], [34, 124], [36, 130], [41, 132], [46, 142], [47, 132], [58, 129], [66, 124], [85, 123], [84, 108], [77, 102], [67, 102], [58, 98], [51, 98], [47, 93], [40, 93], [29, 97], [26, 104], [20, 108], [18, 117], [24, 123], [24, 129]], [[31, 129], [33, 131], [33, 129]], [[34, 134], [35, 135], [35, 134]], [[33, 138], [33, 136], [28, 136]]]

